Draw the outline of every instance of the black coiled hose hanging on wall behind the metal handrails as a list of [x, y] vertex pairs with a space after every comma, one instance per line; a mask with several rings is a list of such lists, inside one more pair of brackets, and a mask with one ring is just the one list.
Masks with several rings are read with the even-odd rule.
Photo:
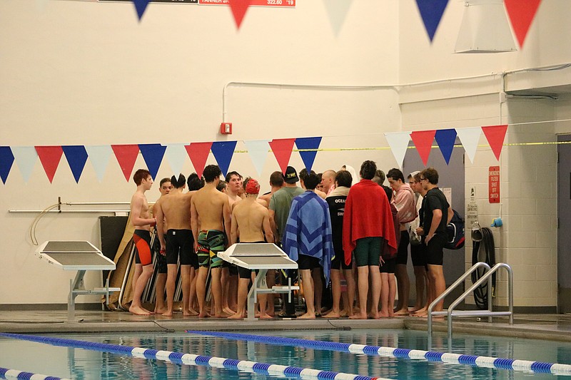
[[[493, 267], [495, 265], [494, 235], [492, 230], [487, 227], [481, 228], [480, 233], [481, 240], [473, 240], [472, 242], [472, 265], [475, 265], [477, 262], [485, 262], [490, 267]], [[483, 247], [482, 250], [480, 250], [480, 247]], [[477, 268], [472, 273], [472, 283], [477, 282], [485, 272], [487, 272], [487, 269]], [[474, 301], [480, 310], [487, 309], [487, 284], [487, 282], [484, 282], [474, 290]], [[495, 273], [492, 274], [492, 294], [495, 294]]]

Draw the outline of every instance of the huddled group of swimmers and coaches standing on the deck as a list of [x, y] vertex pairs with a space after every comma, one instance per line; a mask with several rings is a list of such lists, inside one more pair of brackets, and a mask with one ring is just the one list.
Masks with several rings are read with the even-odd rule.
[[[438, 172], [433, 168], [411, 173], [408, 182], [400, 170], [391, 169], [386, 175], [388, 188], [383, 185], [384, 173], [373, 161], [361, 165], [360, 180], [350, 166], [320, 175], [305, 169], [298, 175], [288, 166], [285, 173], [272, 173], [271, 191], [259, 197], [257, 180], [243, 180], [231, 172], [223, 181], [221, 174], [217, 165], [206, 166], [203, 178], [193, 173], [188, 192], [183, 191], [187, 185], [183, 175], [161, 180], [161, 197], [152, 210], [145, 196], [153, 185], [151, 174], [139, 169], [133, 175], [137, 185], [131, 199], [136, 268], [131, 313], [171, 317], [180, 264], [185, 317], [246, 317], [248, 285], [256, 274], [232, 267], [217, 255], [236, 242], [274, 242], [298, 262], [307, 312], [295, 314], [293, 304], [285, 302], [276, 314], [273, 295], [263, 294], [258, 295], [257, 317], [261, 319], [276, 315], [313, 319], [322, 313], [328, 318], [423, 317], [426, 305], [444, 291], [442, 256], [448, 218], [443, 215], [450, 215], [451, 209], [438, 189]], [[157, 260], [156, 307], [151, 311], [141, 304], [141, 294], [153, 273], [153, 227], [161, 257]], [[417, 302], [410, 309], [409, 245], [417, 289]], [[209, 271], [210, 309], [206, 304]], [[341, 287], [343, 277], [346, 289]], [[268, 271], [268, 286], [275, 279], [276, 272]], [[321, 296], [329, 279], [333, 306], [326, 311]]]

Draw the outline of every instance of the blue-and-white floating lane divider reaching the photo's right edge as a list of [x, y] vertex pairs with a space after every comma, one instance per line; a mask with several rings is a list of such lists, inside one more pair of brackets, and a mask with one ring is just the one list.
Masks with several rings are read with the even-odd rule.
[[265, 344], [276, 344], [279, 346], [299, 346], [307, 349], [318, 349], [327, 351], [350, 352], [353, 354], [368, 354], [373, 356], [392, 356], [406, 359], [425, 359], [428, 361], [443, 361], [444, 363], [466, 364], [470, 366], [484, 366], [487, 368], [508, 369], [512, 371], [533, 371], [554, 375], [571, 376], [571, 365], [542, 363], [540, 361], [501, 359], [490, 356], [473, 356], [448, 354], [438, 351], [422, 351], [418, 349], [396, 349], [383, 346], [365, 346], [363, 344], [347, 344], [339, 342], [324, 342], [310, 339], [293, 339], [285, 337], [266, 337], [264, 335], [236, 334], [230, 332], [186, 332], [211, 337], [221, 337], [233, 340], [246, 340]]

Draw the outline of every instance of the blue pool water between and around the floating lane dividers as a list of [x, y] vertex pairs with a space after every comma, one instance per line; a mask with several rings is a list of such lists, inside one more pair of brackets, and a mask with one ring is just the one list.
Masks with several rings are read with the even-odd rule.
[[[427, 349], [426, 332], [393, 329], [249, 332], [328, 342]], [[44, 334], [49, 337], [122, 344], [184, 354], [218, 356], [283, 366], [345, 372], [389, 379], [555, 379], [552, 374], [445, 364], [420, 359], [320, 351], [233, 341], [182, 332], [133, 334]], [[433, 351], [446, 351], [444, 334], [435, 334]], [[456, 334], [453, 353], [571, 364], [571, 344], [531, 339]], [[52, 346], [0, 337], [0, 367], [70, 379], [266, 379], [268, 376], [210, 366], [187, 366], [101, 351]], [[561, 376], [562, 378], [564, 376]], [[571, 379], [571, 377], [569, 377]]]

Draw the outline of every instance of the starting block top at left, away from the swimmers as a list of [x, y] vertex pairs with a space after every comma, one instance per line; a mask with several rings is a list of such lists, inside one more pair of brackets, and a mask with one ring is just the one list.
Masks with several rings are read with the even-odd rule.
[[85, 240], [51, 240], [36, 250], [40, 259], [64, 270], [114, 270], [113, 260]]

